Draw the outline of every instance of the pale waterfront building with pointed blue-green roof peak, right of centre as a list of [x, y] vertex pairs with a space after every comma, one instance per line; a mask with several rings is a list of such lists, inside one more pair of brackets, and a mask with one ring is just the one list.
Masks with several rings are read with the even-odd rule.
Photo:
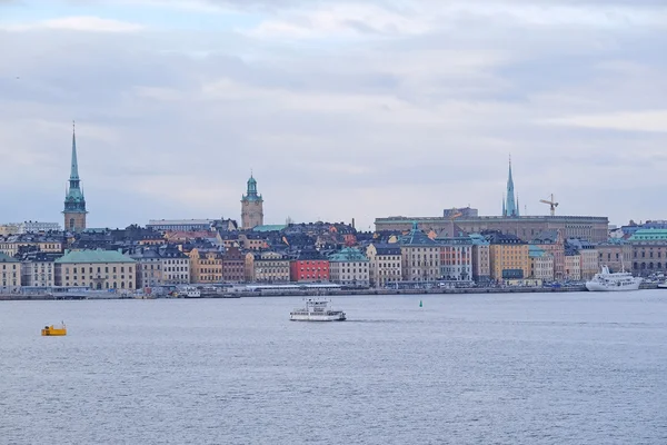
[[398, 239], [404, 281], [435, 281], [440, 278], [440, 246], [412, 224]]

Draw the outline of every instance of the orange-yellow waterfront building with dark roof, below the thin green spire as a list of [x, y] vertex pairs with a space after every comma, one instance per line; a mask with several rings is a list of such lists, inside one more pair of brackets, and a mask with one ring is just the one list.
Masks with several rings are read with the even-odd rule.
[[499, 231], [484, 233], [489, 241], [491, 279], [516, 280], [530, 276], [528, 243], [516, 235]]

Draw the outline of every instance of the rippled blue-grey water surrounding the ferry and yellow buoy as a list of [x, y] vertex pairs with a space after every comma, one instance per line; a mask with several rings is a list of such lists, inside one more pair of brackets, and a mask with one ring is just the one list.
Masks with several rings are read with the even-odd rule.
[[0, 301], [0, 444], [667, 443], [667, 291], [299, 305]]

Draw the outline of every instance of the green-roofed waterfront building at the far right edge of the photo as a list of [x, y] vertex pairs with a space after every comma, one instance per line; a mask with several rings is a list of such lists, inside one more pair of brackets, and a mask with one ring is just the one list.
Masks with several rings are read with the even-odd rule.
[[667, 271], [667, 229], [639, 229], [628, 238], [633, 246], [633, 273], [648, 276]]

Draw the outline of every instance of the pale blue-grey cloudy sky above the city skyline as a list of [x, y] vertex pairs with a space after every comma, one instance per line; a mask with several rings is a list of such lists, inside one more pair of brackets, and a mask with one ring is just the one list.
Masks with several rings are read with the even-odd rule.
[[[663, 48], [663, 49], [661, 49]], [[0, 0], [0, 220], [667, 219], [664, 0]]]

